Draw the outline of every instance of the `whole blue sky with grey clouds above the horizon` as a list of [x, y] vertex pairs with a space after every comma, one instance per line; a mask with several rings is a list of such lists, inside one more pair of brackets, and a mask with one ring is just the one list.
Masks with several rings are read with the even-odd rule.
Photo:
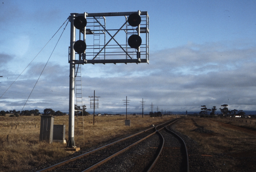
[[97, 111], [124, 112], [126, 96], [131, 112], [142, 112], [142, 98], [144, 112], [151, 111], [150, 104], [153, 111], [200, 111], [201, 105], [219, 109], [222, 104], [230, 110], [256, 109], [254, 1], [2, 0], [0, 110], [19, 111], [26, 103], [23, 110], [67, 112], [70, 22], [65, 30], [63, 23], [70, 13], [138, 10], [148, 11], [150, 18], [149, 64], [82, 65], [87, 111], [93, 111], [89, 96], [94, 90], [100, 97]]

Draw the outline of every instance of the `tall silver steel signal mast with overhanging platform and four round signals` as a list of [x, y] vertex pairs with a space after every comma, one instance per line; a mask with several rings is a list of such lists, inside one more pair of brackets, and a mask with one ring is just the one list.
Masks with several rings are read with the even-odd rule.
[[[108, 25], [110, 28], [106, 27], [107, 20], [110, 20]], [[71, 29], [67, 147], [72, 148], [76, 147], [74, 141], [75, 65], [149, 63], [149, 16], [147, 11], [84, 12], [71, 13], [69, 21]], [[111, 23], [115, 23], [116, 26], [117, 22], [121, 22], [120, 27], [113, 28]], [[110, 39], [107, 40], [109, 37]]]

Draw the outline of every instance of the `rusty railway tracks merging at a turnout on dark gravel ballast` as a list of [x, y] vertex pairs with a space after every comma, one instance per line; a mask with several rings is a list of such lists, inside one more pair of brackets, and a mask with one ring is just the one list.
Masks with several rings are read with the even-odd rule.
[[[110, 143], [98, 149], [92, 150], [85, 154], [81, 154], [72, 159], [69, 159], [69, 160], [60, 162], [56, 165], [50, 166], [48, 168], [42, 169], [39, 172], [122, 171], [120, 167], [123, 169], [126, 169], [126, 171], [154, 171], [154, 169], [157, 169], [159, 166], [159, 161], [157, 161], [159, 157], [164, 158], [165, 156], [163, 155], [163, 152], [166, 152], [166, 150], [163, 151], [163, 149], [166, 149], [166, 146], [164, 146], [166, 145], [164, 144], [165, 143], [164, 138], [167, 138], [166, 135], [174, 134], [174, 133], [171, 133], [171, 134], [167, 133], [170, 131], [166, 128], [166, 126], [174, 123], [178, 119], [179, 118], [172, 119], [161, 125], [157, 125], [155, 127], [133, 134], [124, 139], [115, 141], [113, 143]], [[177, 136], [175, 136], [175, 138], [177, 138]], [[168, 142], [169, 141], [171, 140], [168, 139]], [[180, 142], [182, 143], [182, 141]], [[182, 144], [180, 144], [179, 146], [180, 150], [182, 149], [181, 147], [182, 147]], [[184, 151], [181, 151], [181, 152], [184, 152]], [[187, 165], [186, 171], [189, 171], [187, 153], [186, 153], [186, 156], [185, 155], [179, 155], [179, 156], [181, 156], [181, 164], [182, 164], [180, 166], [184, 167], [184, 164], [186, 164]], [[185, 168], [182, 168], [182, 169], [185, 169]]]

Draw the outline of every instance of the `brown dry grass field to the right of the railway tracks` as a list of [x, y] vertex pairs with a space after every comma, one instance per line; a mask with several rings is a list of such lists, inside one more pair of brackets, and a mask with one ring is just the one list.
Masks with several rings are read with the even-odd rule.
[[218, 156], [222, 171], [256, 171], [256, 125], [245, 120], [188, 117], [176, 130], [198, 142], [206, 155]]

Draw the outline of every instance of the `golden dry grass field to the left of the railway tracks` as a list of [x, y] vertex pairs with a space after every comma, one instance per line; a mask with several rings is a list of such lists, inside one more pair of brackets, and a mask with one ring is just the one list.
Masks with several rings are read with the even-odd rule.
[[[137, 133], [150, 127], [170, 120], [172, 117], [127, 116], [131, 126], [124, 125], [125, 116], [93, 116], [84, 117], [85, 146], [92, 147], [103, 141], [122, 136], [127, 133]], [[66, 144], [39, 142], [40, 116], [0, 117], [0, 171], [25, 171], [47, 161], [54, 161], [68, 156], [64, 151]], [[16, 123], [15, 123], [16, 121]], [[75, 117], [75, 143], [77, 119]], [[15, 125], [13, 125], [15, 123]], [[65, 138], [68, 139], [68, 116], [54, 118], [55, 125], [66, 125]], [[12, 130], [11, 127], [13, 126]], [[11, 131], [11, 133], [10, 133]], [[9, 134], [10, 133], [10, 134]], [[7, 135], [9, 134], [7, 141]], [[83, 148], [83, 147], [81, 147]]]

